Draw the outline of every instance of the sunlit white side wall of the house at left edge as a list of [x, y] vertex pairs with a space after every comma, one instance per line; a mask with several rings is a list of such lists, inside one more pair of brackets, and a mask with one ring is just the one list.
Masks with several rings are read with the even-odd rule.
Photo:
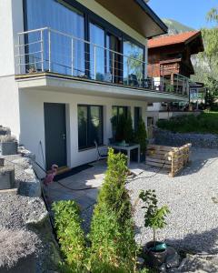
[[16, 33], [23, 30], [22, 0], [0, 0], [0, 125], [19, 138], [19, 97], [15, 82]]

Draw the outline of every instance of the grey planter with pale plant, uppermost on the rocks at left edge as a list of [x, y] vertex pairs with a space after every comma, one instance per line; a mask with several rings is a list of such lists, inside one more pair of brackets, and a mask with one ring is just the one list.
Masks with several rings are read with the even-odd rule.
[[17, 154], [17, 140], [15, 136], [0, 136], [0, 148], [3, 156]]

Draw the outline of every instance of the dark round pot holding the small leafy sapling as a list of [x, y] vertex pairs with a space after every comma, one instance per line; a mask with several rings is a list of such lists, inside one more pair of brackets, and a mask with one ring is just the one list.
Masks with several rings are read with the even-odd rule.
[[151, 267], [153, 268], [158, 268], [160, 267], [166, 258], [166, 254], [167, 254], [167, 249], [163, 249], [163, 250], [159, 250], [159, 251], [154, 251], [152, 250], [152, 248], [154, 248], [154, 245], [160, 245], [163, 244], [163, 242], [155, 242], [154, 241], [150, 241], [145, 245], [145, 253], [148, 257], [148, 263]]

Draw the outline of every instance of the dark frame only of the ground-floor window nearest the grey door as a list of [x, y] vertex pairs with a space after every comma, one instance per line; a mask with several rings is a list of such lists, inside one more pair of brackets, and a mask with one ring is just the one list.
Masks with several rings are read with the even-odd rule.
[[[101, 130], [102, 130], [102, 143], [98, 143], [99, 146], [103, 146], [104, 145], [104, 106], [99, 106], [99, 105], [86, 105], [86, 104], [78, 104], [77, 105], [77, 122], [78, 122], [78, 108], [79, 106], [82, 106], [82, 107], [86, 107], [87, 108], [87, 127], [86, 127], [86, 130], [87, 130], [87, 143], [88, 143], [88, 138], [90, 136], [90, 132], [89, 132], [89, 123], [90, 123], [90, 117], [91, 117], [91, 107], [94, 106], [94, 107], [99, 107], [101, 109]], [[79, 136], [79, 125], [77, 123], [77, 129], [78, 129], [78, 136]], [[84, 147], [79, 147], [79, 141], [78, 141], [78, 150], [79, 151], [83, 151], [83, 150], [86, 150], [86, 149], [89, 149], [89, 148], [93, 148], [95, 147], [94, 144], [93, 145], [86, 145]]]

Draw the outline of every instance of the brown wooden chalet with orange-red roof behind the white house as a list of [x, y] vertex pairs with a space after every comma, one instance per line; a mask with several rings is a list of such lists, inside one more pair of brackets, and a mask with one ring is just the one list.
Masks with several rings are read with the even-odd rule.
[[[163, 35], [151, 39], [148, 42], [148, 76], [153, 77], [154, 81], [163, 81], [166, 91], [174, 90], [178, 93], [190, 94], [190, 88], [196, 86], [190, 79], [194, 75], [191, 58], [199, 52], [203, 52], [203, 39], [200, 31]], [[185, 113], [180, 113], [178, 103], [174, 105], [165, 102], [150, 104], [148, 116], [153, 116], [155, 123], [159, 118], [184, 115]], [[185, 102], [182, 103], [182, 108], [184, 104]]]

